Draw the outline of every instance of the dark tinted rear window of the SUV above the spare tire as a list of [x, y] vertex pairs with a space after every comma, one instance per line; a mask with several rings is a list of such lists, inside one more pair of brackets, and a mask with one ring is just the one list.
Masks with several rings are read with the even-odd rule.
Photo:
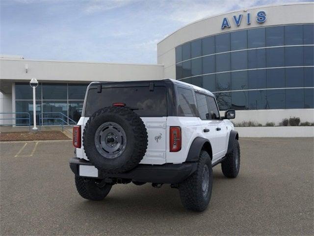
[[164, 86], [89, 89], [86, 100], [85, 117], [90, 117], [99, 109], [122, 102], [127, 107], [137, 108], [134, 112], [140, 117], [166, 117], [167, 91]]

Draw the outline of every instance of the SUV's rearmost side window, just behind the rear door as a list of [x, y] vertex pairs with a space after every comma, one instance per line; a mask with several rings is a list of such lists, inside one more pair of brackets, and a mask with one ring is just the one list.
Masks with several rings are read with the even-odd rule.
[[197, 110], [192, 90], [178, 87], [177, 91], [179, 100], [179, 115], [183, 117], [195, 117]]

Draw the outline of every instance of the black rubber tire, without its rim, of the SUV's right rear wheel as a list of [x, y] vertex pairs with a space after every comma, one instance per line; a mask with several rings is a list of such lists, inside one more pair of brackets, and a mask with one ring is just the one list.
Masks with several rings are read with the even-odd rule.
[[183, 182], [179, 184], [180, 198], [183, 206], [192, 211], [203, 211], [207, 208], [209, 201], [204, 201], [202, 191], [198, 188], [202, 185], [203, 166], [209, 167], [209, 201], [212, 190], [212, 167], [211, 160], [207, 151], [201, 151], [197, 170]]

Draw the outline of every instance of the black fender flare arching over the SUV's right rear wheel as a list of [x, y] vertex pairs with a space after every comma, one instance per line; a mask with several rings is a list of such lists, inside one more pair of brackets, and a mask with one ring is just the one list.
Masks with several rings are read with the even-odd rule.
[[202, 149], [205, 149], [209, 153], [210, 159], [212, 159], [212, 149], [209, 140], [197, 137], [193, 140], [190, 146], [186, 161], [198, 161]]

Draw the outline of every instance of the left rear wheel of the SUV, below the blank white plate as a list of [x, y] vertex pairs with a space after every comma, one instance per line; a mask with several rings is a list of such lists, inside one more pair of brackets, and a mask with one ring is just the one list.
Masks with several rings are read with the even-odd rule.
[[93, 201], [103, 200], [112, 187], [112, 185], [107, 184], [104, 187], [99, 187], [95, 179], [78, 176], [75, 177], [75, 185], [82, 198]]

